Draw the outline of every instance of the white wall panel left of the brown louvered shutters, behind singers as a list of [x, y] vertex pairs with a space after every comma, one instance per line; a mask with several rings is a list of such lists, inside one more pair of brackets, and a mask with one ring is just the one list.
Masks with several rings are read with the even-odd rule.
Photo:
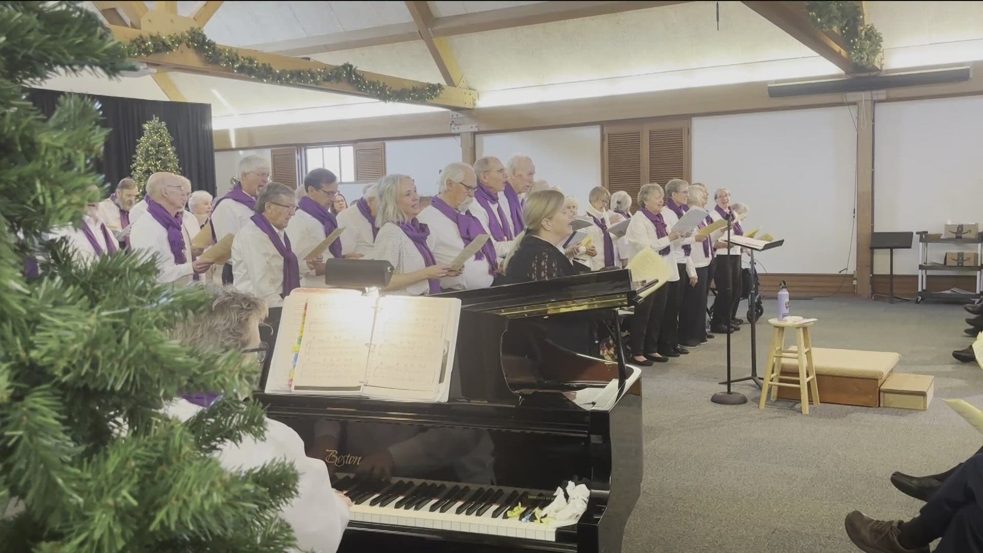
[[559, 186], [587, 206], [587, 194], [601, 186], [601, 127], [569, 127], [518, 133], [478, 135], [477, 157], [494, 155], [507, 163], [512, 154], [526, 154], [536, 163], [536, 178]]

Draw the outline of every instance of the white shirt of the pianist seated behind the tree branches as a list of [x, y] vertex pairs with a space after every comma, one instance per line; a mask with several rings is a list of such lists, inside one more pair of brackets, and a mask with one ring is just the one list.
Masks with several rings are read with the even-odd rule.
[[[182, 421], [201, 411], [202, 407], [185, 399], [174, 400], [164, 407], [167, 415]], [[238, 444], [224, 442], [215, 457], [223, 467], [233, 471], [259, 468], [277, 460], [292, 464], [300, 476], [297, 495], [283, 506], [280, 516], [293, 527], [299, 548], [334, 553], [350, 515], [344, 500], [331, 487], [327, 466], [324, 461], [307, 457], [304, 441], [294, 429], [270, 418], [265, 423], [262, 440], [244, 436]]]

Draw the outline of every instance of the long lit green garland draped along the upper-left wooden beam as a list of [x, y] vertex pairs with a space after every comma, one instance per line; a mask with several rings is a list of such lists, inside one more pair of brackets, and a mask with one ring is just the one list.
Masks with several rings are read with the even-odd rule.
[[131, 40], [129, 54], [135, 58], [145, 58], [153, 54], [173, 52], [187, 45], [202, 54], [205, 61], [260, 81], [276, 85], [311, 85], [323, 83], [348, 83], [356, 91], [382, 101], [408, 101], [426, 103], [443, 92], [443, 85], [429, 83], [426, 87], [393, 89], [379, 81], [366, 79], [365, 74], [350, 63], [332, 69], [274, 69], [273, 66], [252, 56], [240, 55], [232, 48], [223, 48], [204, 35], [201, 29], [189, 29], [176, 34], [161, 36], [145, 34]]

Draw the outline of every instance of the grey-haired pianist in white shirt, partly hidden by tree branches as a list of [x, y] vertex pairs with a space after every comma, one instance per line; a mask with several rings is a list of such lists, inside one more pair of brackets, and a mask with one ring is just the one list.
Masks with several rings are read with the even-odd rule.
[[[260, 346], [260, 323], [266, 306], [253, 295], [212, 286], [211, 310], [179, 324], [172, 337], [200, 349], [255, 351]], [[257, 368], [259, 373], [259, 368]], [[188, 420], [216, 399], [207, 394], [189, 395], [167, 404], [165, 412]], [[283, 506], [280, 516], [290, 523], [297, 545], [304, 550], [333, 552], [348, 524], [351, 502], [331, 487], [324, 463], [308, 458], [304, 442], [289, 426], [267, 418], [263, 439], [244, 436], [239, 443], [226, 442], [215, 453], [230, 471], [259, 468], [285, 460], [299, 473], [297, 495]]]

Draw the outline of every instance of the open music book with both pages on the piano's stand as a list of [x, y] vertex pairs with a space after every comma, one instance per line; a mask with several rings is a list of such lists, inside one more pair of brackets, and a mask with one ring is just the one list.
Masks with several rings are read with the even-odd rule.
[[446, 401], [461, 300], [296, 288], [283, 301], [267, 394]]

